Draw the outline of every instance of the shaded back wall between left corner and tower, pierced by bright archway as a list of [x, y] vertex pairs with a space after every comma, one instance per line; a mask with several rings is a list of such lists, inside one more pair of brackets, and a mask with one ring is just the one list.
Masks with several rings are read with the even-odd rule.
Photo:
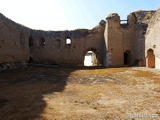
[[[74, 31], [44, 32], [32, 31], [33, 46], [30, 47], [30, 57], [38, 63], [55, 63], [80, 65], [84, 64], [87, 51], [96, 53], [100, 65], [104, 58], [104, 27], [105, 22], [92, 30], [78, 29]], [[71, 39], [71, 44], [66, 44], [66, 39]], [[41, 39], [45, 45], [41, 45]]]

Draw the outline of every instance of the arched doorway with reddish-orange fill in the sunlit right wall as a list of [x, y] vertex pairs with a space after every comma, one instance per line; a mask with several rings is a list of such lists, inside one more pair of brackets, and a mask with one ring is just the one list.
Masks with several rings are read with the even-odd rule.
[[155, 55], [152, 49], [147, 51], [148, 67], [155, 68]]

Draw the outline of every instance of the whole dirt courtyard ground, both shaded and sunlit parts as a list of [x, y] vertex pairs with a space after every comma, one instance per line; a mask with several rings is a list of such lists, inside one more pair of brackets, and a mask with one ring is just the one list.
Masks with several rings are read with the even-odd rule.
[[0, 73], [0, 120], [151, 118], [160, 120], [160, 70], [28, 67]]

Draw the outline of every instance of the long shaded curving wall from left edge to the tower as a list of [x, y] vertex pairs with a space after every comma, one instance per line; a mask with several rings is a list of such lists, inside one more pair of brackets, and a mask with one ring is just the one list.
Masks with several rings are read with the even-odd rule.
[[[60, 65], [84, 64], [87, 51], [94, 51], [98, 63], [104, 59], [105, 21], [91, 30], [40, 31], [19, 25], [0, 15], [0, 63], [35, 62]], [[66, 39], [71, 43], [67, 44]]]

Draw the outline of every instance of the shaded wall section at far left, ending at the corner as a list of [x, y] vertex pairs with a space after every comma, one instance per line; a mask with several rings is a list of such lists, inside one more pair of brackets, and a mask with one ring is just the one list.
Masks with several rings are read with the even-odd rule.
[[28, 60], [29, 33], [22, 28], [0, 14], [0, 63]]

